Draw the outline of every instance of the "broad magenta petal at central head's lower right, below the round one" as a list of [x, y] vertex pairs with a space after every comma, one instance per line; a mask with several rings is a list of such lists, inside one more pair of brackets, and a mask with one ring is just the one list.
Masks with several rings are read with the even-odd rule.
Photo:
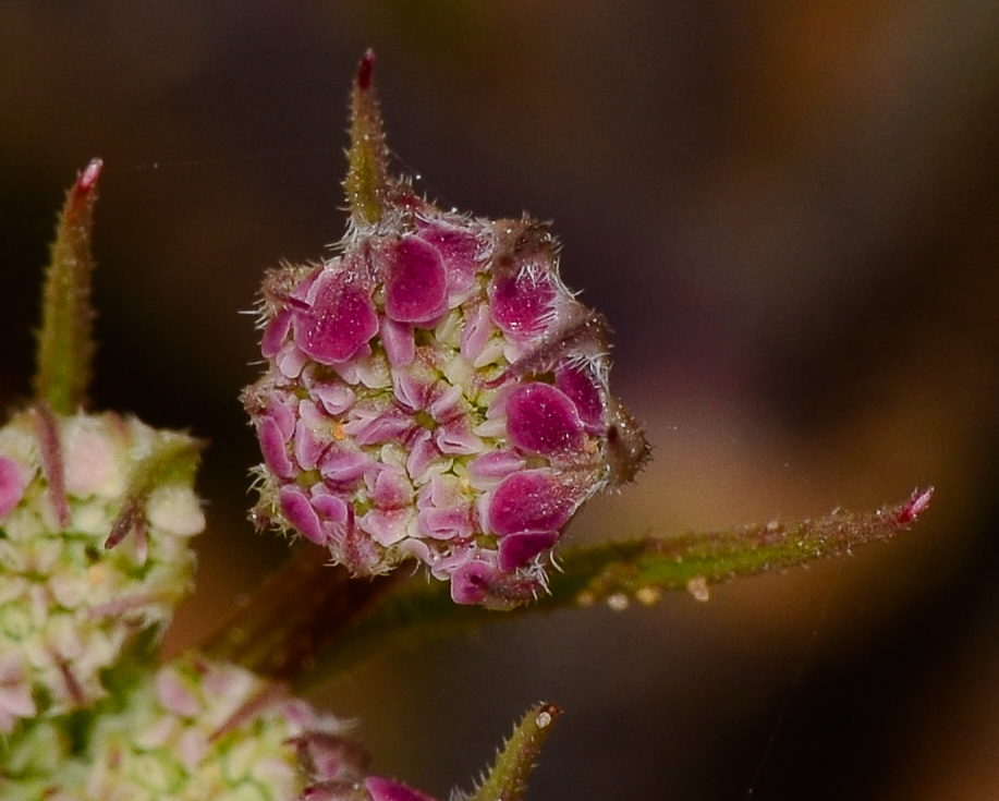
[[561, 531], [575, 508], [571, 487], [546, 470], [508, 475], [489, 502], [489, 527], [497, 534]]

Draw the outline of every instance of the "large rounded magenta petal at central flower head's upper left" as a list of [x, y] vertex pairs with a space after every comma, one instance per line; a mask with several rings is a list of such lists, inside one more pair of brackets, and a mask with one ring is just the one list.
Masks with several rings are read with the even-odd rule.
[[324, 269], [309, 295], [294, 317], [295, 342], [309, 359], [345, 362], [378, 332], [370, 290], [353, 272]]

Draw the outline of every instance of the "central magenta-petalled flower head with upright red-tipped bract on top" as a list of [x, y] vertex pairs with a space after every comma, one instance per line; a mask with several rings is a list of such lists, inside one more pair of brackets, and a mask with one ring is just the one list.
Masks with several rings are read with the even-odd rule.
[[265, 281], [259, 525], [357, 574], [413, 558], [460, 604], [510, 606], [595, 493], [647, 457], [608, 388], [604, 318], [529, 218], [446, 211], [390, 178], [371, 60], [353, 99], [338, 255]]

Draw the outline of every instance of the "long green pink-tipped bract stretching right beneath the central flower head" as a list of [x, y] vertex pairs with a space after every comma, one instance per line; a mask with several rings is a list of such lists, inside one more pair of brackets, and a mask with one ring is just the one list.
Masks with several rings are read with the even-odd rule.
[[[601, 543], [565, 553], [550, 592], [507, 615], [585, 607], [598, 602], [655, 602], [667, 590], [706, 597], [707, 588], [732, 579], [801, 567], [887, 542], [926, 509], [933, 489], [869, 512], [837, 510], [825, 518], [767, 523], [723, 532]], [[386, 598], [322, 655], [317, 675], [355, 664], [400, 638], [447, 633], [505, 619], [482, 607], [458, 606], [441, 582], [414, 581]]]

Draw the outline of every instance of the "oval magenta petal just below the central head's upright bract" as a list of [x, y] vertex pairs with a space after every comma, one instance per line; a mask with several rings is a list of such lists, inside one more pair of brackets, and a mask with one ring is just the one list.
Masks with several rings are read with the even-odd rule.
[[444, 267], [430, 245], [414, 236], [385, 254], [385, 313], [398, 323], [429, 323], [448, 310]]

